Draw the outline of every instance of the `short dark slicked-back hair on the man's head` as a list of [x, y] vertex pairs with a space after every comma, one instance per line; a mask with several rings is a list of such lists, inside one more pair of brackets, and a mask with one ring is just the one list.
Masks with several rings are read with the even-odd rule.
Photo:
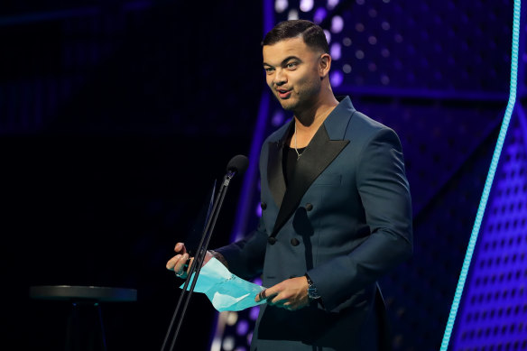
[[284, 39], [302, 37], [306, 45], [329, 53], [328, 41], [324, 30], [316, 23], [306, 20], [290, 20], [278, 23], [267, 32], [262, 46], [273, 45]]

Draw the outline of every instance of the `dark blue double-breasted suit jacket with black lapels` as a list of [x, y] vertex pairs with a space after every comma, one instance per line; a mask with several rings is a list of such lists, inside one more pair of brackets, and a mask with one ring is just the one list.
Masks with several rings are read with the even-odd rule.
[[399, 138], [346, 97], [302, 153], [286, 188], [282, 150], [291, 126], [262, 147], [258, 228], [217, 251], [236, 275], [262, 274], [265, 287], [308, 272], [321, 303], [297, 311], [263, 305], [252, 350], [386, 349], [376, 281], [412, 252]]

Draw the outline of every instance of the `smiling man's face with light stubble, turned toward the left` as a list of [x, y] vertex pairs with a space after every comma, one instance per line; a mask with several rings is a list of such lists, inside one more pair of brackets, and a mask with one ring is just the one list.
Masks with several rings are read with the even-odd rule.
[[284, 109], [295, 112], [316, 104], [321, 55], [322, 51], [311, 49], [301, 37], [264, 45], [267, 85]]

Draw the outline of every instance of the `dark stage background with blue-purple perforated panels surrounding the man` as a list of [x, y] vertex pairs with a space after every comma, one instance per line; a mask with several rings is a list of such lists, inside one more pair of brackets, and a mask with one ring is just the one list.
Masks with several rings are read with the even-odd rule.
[[[63, 349], [70, 306], [29, 297], [33, 285], [59, 284], [136, 289], [136, 302], [102, 306], [108, 349], [161, 348], [180, 293], [164, 264], [236, 154], [253, 167], [231, 182], [210, 247], [257, 220], [259, 143], [291, 118], [267, 94], [260, 42], [296, 17], [327, 30], [337, 95], [401, 137], [415, 253], [381, 284], [394, 349], [439, 349], [509, 97], [508, 0], [3, 2], [3, 348]], [[521, 67], [526, 60], [523, 45]], [[521, 69], [520, 107], [525, 80]], [[477, 261], [494, 267], [496, 283], [485, 270], [473, 277], [483, 291], [462, 305], [468, 324], [452, 349], [527, 349], [522, 114], [513, 115], [487, 256]], [[506, 289], [502, 262], [514, 265]], [[495, 305], [493, 318], [481, 317], [492, 309], [481, 300]], [[508, 324], [499, 306], [512, 310]], [[217, 316], [195, 294], [176, 349], [208, 349]], [[229, 320], [221, 349], [246, 349], [250, 311]]]

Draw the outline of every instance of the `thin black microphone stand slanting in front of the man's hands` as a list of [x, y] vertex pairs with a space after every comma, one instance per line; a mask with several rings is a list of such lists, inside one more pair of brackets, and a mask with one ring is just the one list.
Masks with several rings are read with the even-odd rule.
[[[169, 326], [169, 329], [167, 331], [167, 334], [164, 338], [164, 341], [162, 343], [161, 350], [164, 350], [166, 343], [168, 341], [169, 335], [171, 334], [171, 329], [173, 328], [174, 321], [178, 314], [180, 313], [180, 319], [178, 321], [178, 325], [175, 330], [175, 334], [172, 337], [171, 342], [171, 348], [173, 349], [176, 339], [180, 333], [180, 327], [181, 323], [183, 321], [183, 318], [185, 317], [185, 313], [187, 311], [187, 307], [189, 306], [190, 297], [192, 295], [192, 292], [194, 291], [194, 287], [196, 286], [196, 282], [198, 282], [198, 276], [199, 272], [201, 272], [201, 266], [203, 264], [203, 260], [205, 259], [205, 255], [207, 254], [207, 247], [208, 242], [210, 241], [210, 236], [212, 235], [212, 231], [214, 230], [214, 226], [216, 226], [216, 220], [217, 216], [219, 214], [219, 210], [221, 209], [221, 206], [223, 204], [223, 200], [225, 199], [225, 195], [227, 193], [227, 188], [230, 183], [230, 180], [234, 178], [236, 175], [236, 171], [227, 171], [227, 174], [223, 178], [223, 182], [221, 184], [221, 187], [219, 189], [219, 192], [217, 193], [217, 197], [214, 201], [214, 204], [212, 206], [212, 210], [210, 214], [207, 217], [207, 223], [205, 226], [205, 229], [203, 230], [203, 235], [201, 236], [201, 240], [199, 241], [198, 249], [196, 250], [197, 254], [194, 256], [194, 260], [192, 261], [192, 264], [190, 264], [190, 271], [188, 272], [187, 279], [185, 280], [185, 284], [183, 285], [183, 291], [180, 294], [180, 299], [178, 300], [178, 304], [176, 306], [176, 309], [174, 311], [174, 314], [171, 319], [171, 324]], [[195, 273], [194, 279], [192, 279], [192, 275]], [[189, 286], [190, 280], [192, 280], [192, 283], [190, 284], [190, 290], [187, 291], [187, 288]], [[181, 306], [181, 302], [185, 298], [184, 305]]]

